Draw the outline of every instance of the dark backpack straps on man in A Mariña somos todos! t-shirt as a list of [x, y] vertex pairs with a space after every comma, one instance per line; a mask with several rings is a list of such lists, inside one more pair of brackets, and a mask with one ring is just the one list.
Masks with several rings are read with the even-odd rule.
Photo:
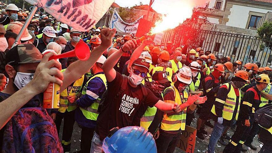
[[[108, 97], [108, 88], [106, 89], [106, 91], [101, 96], [101, 100], [100, 100], [100, 103], [99, 103], [99, 106], [97, 109], [98, 113], [102, 112], [105, 108], [107, 108], [111, 104], [112, 101], [114, 101], [117, 97], [119, 97], [121, 95], [122, 92], [124, 92], [126, 90], [127, 82], [128, 82], [128, 77], [123, 75], [121, 88], [113, 98]], [[145, 101], [147, 98], [147, 88], [144, 85], [142, 85], [142, 83], [140, 85], [141, 85], [141, 89], [143, 92], [143, 100], [142, 101]]]

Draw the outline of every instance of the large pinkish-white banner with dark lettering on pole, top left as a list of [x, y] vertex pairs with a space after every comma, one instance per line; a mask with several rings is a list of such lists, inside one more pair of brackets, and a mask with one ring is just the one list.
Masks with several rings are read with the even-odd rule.
[[90, 30], [114, 0], [25, 0], [79, 31]]

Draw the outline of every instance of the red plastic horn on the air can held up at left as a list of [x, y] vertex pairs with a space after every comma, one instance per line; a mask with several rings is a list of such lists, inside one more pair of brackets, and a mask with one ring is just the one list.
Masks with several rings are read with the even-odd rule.
[[74, 50], [59, 55], [53, 55], [49, 58], [52, 59], [66, 58], [66, 57], [77, 57], [80, 61], [86, 61], [90, 57], [90, 48], [84, 42], [78, 42]]

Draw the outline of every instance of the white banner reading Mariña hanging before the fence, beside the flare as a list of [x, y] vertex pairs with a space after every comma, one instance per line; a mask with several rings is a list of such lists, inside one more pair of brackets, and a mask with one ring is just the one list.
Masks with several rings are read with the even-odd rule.
[[117, 13], [116, 9], [114, 9], [109, 28], [115, 28], [119, 32], [136, 33], [139, 25], [139, 20], [141, 18], [143, 18], [143, 15], [133, 23], [125, 23]]

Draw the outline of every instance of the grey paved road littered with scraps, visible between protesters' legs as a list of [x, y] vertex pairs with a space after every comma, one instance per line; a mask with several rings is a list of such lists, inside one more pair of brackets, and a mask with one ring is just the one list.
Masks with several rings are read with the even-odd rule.
[[[198, 118], [198, 115], [195, 115]], [[191, 126], [196, 128], [196, 121], [197, 119], [193, 119]], [[214, 124], [213, 121], [211, 121], [212, 124]], [[61, 130], [60, 130], [60, 135], [59, 137], [62, 138], [62, 127], [63, 127], [63, 121], [62, 121], [62, 125], [61, 125]], [[206, 126], [206, 131], [208, 132], [208, 135], [205, 135], [205, 139], [201, 140], [199, 138], [196, 138], [196, 144], [195, 144], [195, 153], [202, 153], [205, 152], [208, 144], [209, 144], [209, 138], [210, 138], [210, 134], [212, 132], [212, 129], [208, 126]], [[232, 134], [234, 133], [234, 131], [229, 130], [227, 132], [227, 134], [229, 136], [232, 136]], [[81, 128], [79, 128], [78, 124], [75, 123], [74, 124], [74, 132], [72, 135], [72, 145], [71, 145], [71, 151], [70, 153], [76, 152], [80, 150], [80, 137], [81, 137]], [[253, 150], [249, 150], [247, 151], [247, 153], [257, 153], [258, 151], [260, 151], [260, 143], [258, 142], [257, 136], [255, 136], [254, 140], [253, 140], [253, 144], [255, 146], [257, 146], [257, 151], [253, 151]], [[224, 146], [221, 145], [219, 142], [217, 143], [216, 147], [215, 147], [215, 152], [216, 153], [221, 153], [224, 149]], [[184, 151], [182, 151], [179, 148], [176, 148], [174, 153], [183, 153]]]

